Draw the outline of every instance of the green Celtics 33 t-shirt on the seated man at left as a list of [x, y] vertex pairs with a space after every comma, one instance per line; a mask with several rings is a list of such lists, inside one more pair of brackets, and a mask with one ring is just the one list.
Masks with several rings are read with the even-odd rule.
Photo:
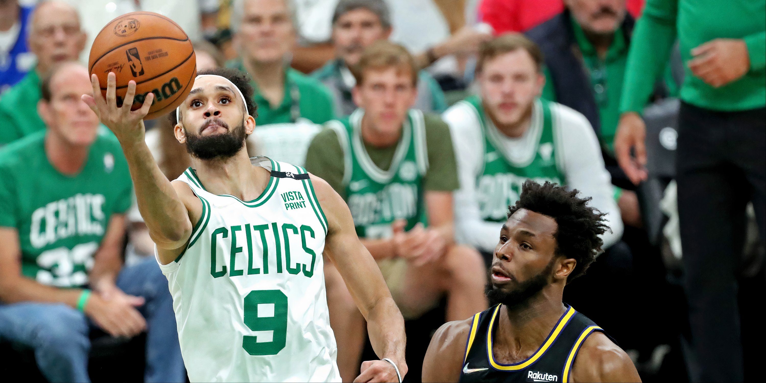
[[128, 164], [116, 138], [100, 133], [80, 173], [64, 175], [44, 139], [33, 133], [0, 150], [0, 227], [18, 230], [25, 277], [83, 286], [112, 214], [132, 203]]

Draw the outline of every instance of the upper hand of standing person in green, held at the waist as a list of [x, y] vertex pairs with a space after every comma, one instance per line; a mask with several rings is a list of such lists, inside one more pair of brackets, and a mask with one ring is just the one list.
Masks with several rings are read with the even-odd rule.
[[692, 56], [692, 74], [711, 87], [723, 87], [750, 70], [748, 46], [741, 38], [716, 38], [692, 49]]

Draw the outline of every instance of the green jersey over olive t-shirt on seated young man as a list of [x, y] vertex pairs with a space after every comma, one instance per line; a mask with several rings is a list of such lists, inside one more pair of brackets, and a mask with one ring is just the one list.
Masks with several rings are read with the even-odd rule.
[[387, 236], [398, 218], [408, 220], [407, 228], [427, 224], [424, 191], [460, 187], [449, 127], [439, 116], [410, 110], [397, 144], [378, 148], [362, 142], [363, 115], [356, 110], [328, 123], [309, 146], [306, 168], [349, 203], [362, 237]]

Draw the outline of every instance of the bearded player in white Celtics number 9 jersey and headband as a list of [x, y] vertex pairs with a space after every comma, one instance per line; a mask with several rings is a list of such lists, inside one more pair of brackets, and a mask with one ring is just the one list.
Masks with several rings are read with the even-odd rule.
[[381, 357], [364, 362], [356, 381], [401, 381], [404, 320], [345, 202], [300, 166], [248, 158], [255, 108], [245, 74], [216, 69], [195, 78], [174, 127], [191, 167], [172, 182], [144, 142], [152, 93], [131, 111], [134, 81], [118, 107], [115, 75], [106, 100], [91, 80], [93, 96], [83, 101], [125, 152], [169, 280], [190, 381], [340, 381], [322, 253], [349, 286]]

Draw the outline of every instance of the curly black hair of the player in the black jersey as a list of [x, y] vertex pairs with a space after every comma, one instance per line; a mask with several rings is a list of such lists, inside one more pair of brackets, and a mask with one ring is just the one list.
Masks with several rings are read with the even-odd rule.
[[526, 209], [556, 221], [558, 229], [553, 236], [556, 240], [556, 255], [577, 261], [575, 270], [567, 277], [567, 283], [588, 270], [604, 244], [599, 235], [611, 231], [604, 222], [606, 214], [588, 206], [591, 197], [578, 198], [577, 195], [577, 189], [568, 191], [551, 182], [540, 185], [527, 180], [522, 185], [519, 201], [508, 207], [508, 218], [519, 209]]

